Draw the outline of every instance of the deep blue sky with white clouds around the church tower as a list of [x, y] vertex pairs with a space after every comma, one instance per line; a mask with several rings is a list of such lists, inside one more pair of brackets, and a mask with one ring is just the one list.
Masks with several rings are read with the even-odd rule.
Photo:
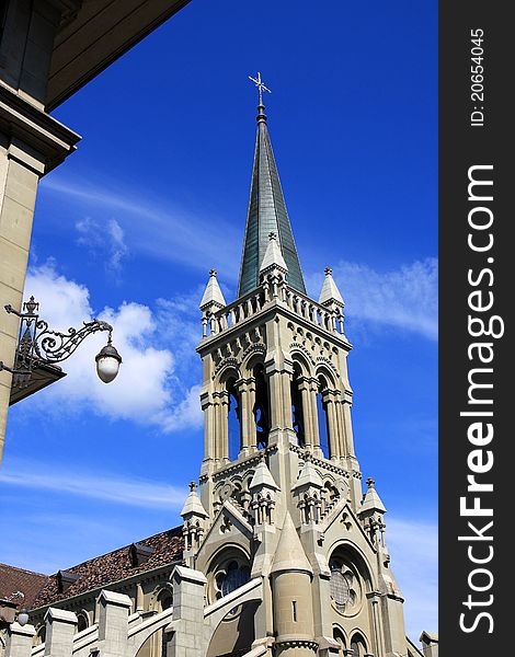
[[198, 475], [197, 306], [236, 293], [260, 70], [311, 296], [346, 301], [364, 479], [387, 506], [408, 630], [436, 629], [436, 2], [193, 0], [54, 115], [83, 136], [41, 184], [26, 293], [66, 328], [100, 315], [124, 364], [9, 416], [0, 561], [55, 572], [179, 523]]

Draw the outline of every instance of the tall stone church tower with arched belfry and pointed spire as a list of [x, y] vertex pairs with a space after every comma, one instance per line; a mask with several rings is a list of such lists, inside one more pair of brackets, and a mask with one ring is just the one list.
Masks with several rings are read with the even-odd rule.
[[329, 268], [306, 292], [260, 87], [238, 298], [211, 270], [201, 302], [204, 460], [182, 512], [196, 655], [408, 654], [386, 509], [354, 451], [343, 308]]

